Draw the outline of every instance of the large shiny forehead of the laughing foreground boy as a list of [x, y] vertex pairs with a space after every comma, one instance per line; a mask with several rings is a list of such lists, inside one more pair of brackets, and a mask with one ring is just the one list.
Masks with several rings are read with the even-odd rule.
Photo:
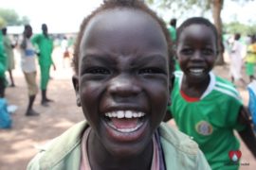
[[101, 11], [86, 26], [81, 42], [81, 54], [91, 48], [101, 51], [146, 51], [157, 48], [167, 51], [164, 33], [155, 19], [144, 11], [114, 8]]

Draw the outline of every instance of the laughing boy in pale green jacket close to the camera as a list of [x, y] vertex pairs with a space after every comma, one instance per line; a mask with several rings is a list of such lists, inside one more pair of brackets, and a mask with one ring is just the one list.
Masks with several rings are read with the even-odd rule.
[[160, 125], [174, 71], [169, 42], [141, 1], [104, 1], [84, 19], [73, 85], [88, 123], [55, 139], [28, 169], [210, 169], [197, 144]]

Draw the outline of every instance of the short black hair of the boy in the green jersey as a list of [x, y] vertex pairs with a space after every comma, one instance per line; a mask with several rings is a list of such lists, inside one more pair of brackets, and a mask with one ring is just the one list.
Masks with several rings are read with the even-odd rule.
[[204, 17], [192, 17], [187, 19], [185, 22], [183, 22], [178, 28], [177, 28], [177, 42], [180, 38], [180, 34], [183, 31], [185, 27], [191, 26], [191, 25], [204, 25], [210, 27], [212, 30], [215, 40], [216, 40], [216, 47], [218, 50], [218, 31], [217, 28], [210, 23], [210, 21]]

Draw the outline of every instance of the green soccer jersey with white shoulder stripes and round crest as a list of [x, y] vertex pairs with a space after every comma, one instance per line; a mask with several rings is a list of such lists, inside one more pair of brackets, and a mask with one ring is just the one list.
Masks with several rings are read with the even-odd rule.
[[188, 101], [180, 93], [182, 72], [175, 72], [172, 112], [179, 129], [199, 144], [212, 169], [238, 169], [229, 159], [229, 151], [238, 150], [233, 129], [244, 127], [237, 122], [242, 101], [227, 80], [210, 73], [210, 84], [197, 101]]

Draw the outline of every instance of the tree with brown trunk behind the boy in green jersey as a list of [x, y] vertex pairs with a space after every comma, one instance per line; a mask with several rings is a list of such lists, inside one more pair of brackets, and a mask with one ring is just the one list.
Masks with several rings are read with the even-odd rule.
[[[159, 8], [172, 8], [178, 7], [180, 11], [186, 11], [188, 9], [197, 7], [201, 8], [202, 14], [205, 11], [211, 9], [212, 18], [214, 21], [214, 25], [218, 30], [219, 36], [219, 47], [221, 46], [222, 41], [222, 20], [221, 20], [221, 11], [223, 8], [224, 0], [146, 0], [149, 4], [158, 4]], [[246, 3], [249, 0], [233, 0], [238, 3]], [[217, 59], [217, 64], [223, 64], [224, 59], [223, 56], [220, 55]]]

